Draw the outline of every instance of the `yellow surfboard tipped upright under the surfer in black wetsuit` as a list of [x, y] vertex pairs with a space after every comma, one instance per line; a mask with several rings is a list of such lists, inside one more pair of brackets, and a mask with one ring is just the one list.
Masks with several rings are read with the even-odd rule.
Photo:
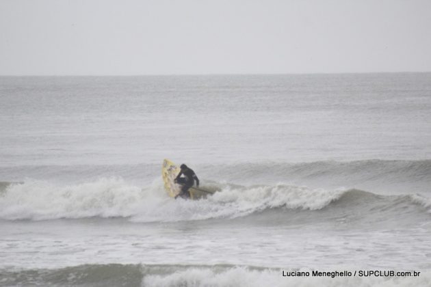
[[[161, 178], [163, 178], [164, 186], [166, 189], [166, 193], [170, 197], [177, 196], [181, 191], [181, 185], [174, 182], [175, 178], [177, 178], [180, 168], [175, 163], [168, 159], [164, 159], [163, 165], [161, 165]], [[205, 189], [200, 189], [197, 187], [190, 187], [190, 198], [192, 200], [197, 200], [201, 197], [206, 197], [207, 195], [213, 194], [215, 191], [209, 191]]]

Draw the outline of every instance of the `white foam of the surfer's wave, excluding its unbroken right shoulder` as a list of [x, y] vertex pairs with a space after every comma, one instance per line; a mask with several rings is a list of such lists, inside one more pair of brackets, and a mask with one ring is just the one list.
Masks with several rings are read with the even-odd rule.
[[143, 189], [121, 178], [66, 186], [27, 180], [12, 184], [0, 196], [0, 218], [131, 217], [138, 222], [235, 218], [267, 208], [317, 210], [337, 200], [343, 192], [277, 184], [225, 187], [205, 200], [172, 200], [159, 178]]

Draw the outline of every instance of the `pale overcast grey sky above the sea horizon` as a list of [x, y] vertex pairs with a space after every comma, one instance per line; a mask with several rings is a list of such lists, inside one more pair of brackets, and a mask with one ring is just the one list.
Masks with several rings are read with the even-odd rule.
[[0, 0], [0, 74], [431, 71], [430, 0]]

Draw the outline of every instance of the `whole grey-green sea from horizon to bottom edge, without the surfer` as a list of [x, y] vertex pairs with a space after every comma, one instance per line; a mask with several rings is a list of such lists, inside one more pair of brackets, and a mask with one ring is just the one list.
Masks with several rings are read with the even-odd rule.
[[[0, 100], [0, 286], [431, 286], [431, 73], [0, 77]], [[165, 158], [218, 192], [172, 200]]]

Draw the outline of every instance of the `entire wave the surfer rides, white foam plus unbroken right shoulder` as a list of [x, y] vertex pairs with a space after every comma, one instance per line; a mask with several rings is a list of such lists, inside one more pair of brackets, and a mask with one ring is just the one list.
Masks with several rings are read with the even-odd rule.
[[128, 184], [121, 178], [99, 178], [72, 185], [29, 180], [8, 184], [0, 192], [0, 219], [127, 217], [134, 222], [170, 222], [304, 213], [307, 210], [315, 219], [324, 213], [328, 218], [335, 215], [350, 218], [354, 214], [365, 218], [373, 214], [427, 216], [431, 207], [430, 199], [422, 195], [376, 195], [357, 189], [309, 189], [288, 184], [249, 187], [214, 184], [219, 192], [196, 201], [168, 197], [159, 178], [144, 188]]

